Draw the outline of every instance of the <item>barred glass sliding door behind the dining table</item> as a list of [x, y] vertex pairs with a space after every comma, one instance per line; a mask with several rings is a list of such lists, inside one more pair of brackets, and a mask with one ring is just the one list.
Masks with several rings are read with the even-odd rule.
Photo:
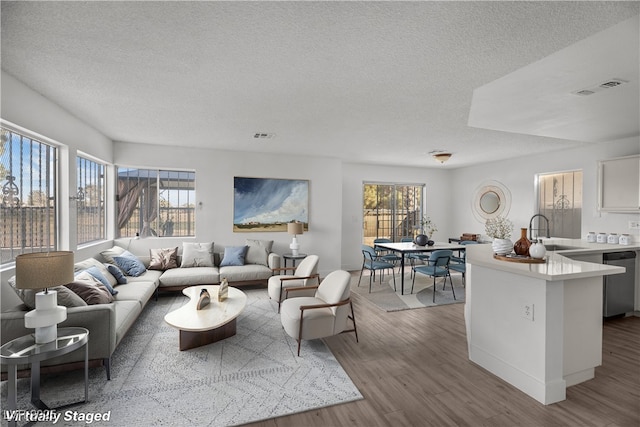
[[399, 241], [413, 237], [420, 227], [424, 185], [365, 183], [363, 243], [376, 238]]

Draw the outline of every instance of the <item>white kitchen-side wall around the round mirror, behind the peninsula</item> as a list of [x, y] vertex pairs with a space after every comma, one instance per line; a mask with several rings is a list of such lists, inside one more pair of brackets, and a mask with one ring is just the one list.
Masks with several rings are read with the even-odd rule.
[[[514, 223], [512, 240], [519, 238], [518, 228], [529, 227], [531, 216], [536, 213], [534, 177], [538, 173], [580, 169], [583, 172], [582, 238], [587, 232], [616, 232], [632, 234], [639, 241], [638, 230], [629, 230], [628, 222], [640, 219], [640, 215], [602, 213], [597, 210], [598, 160], [640, 153], [640, 139], [627, 138], [604, 144], [593, 144], [586, 148], [554, 151], [536, 156], [527, 156], [478, 166], [457, 169], [452, 174], [452, 215], [455, 232], [484, 234], [484, 223], [480, 223], [471, 211], [475, 190], [483, 181], [495, 180], [504, 184], [511, 192], [511, 209], [508, 218]], [[629, 177], [629, 179], [640, 179]]]

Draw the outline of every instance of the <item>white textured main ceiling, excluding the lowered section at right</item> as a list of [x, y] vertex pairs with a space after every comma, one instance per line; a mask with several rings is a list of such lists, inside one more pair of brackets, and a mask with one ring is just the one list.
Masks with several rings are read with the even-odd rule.
[[444, 167], [460, 167], [588, 144], [469, 127], [473, 92], [639, 13], [638, 2], [3, 1], [2, 68], [116, 141], [433, 167], [428, 153], [445, 150]]

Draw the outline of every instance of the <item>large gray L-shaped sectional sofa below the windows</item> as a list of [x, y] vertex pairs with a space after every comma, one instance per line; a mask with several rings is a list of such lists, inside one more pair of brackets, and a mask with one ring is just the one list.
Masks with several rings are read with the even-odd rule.
[[[149, 253], [134, 253], [133, 255], [137, 256], [146, 269], [139, 276], [125, 276], [126, 284], [118, 283], [116, 276], [109, 273], [107, 268], [109, 257], [114, 253], [121, 253], [124, 250], [122, 247], [116, 245], [108, 251], [96, 254], [93, 258], [78, 261], [75, 263], [76, 271], [86, 270], [92, 266], [96, 267], [109, 281], [112, 288], [117, 291], [117, 294], [113, 295], [112, 302], [106, 304], [80, 304], [78, 306], [70, 304], [71, 306], [67, 307], [67, 319], [58, 327], [80, 326], [87, 328], [89, 330], [89, 359], [93, 365], [102, 362], [106, 369], [107, 379], [110, 379], [111, 355], [142, 313], [145, 305], [150, 303], [152, 297], [155, 296], [157, 299], [159, 291], [177, 291], [188, 286], [217, 284], [222, 278], [226, 278], [231, 286], [247, 284], [266, 286], [273, 271], [280, 267], [280, 257], [270, 253], [271, 245], [268, 241], [247, 240], [247, 243], [249, 249], [242, 265], [221, 266], [225, 253], [213, 252], [211, 253], [211, 263], [201, 263], [206, 265], [196, 263], [196, 265], [187, 267], [183, 262], [183, 249], [183, 251], [178, 250], [177, 267], [154, 270], [149, 268], [153, 261]], [[252, 248], [255, 249], [256, 246], [260, 250], [252, 251]], [[213, 250], [213, 244], [211, 244], [211, 249]], [[226, 250], [226, 248], [222, 250]], [[10, 279], [9, 283], [11, 284], [11, 282]], [[63, 291], [62, 293], [66, 292], [65, 289]], [[17, 291], [19, 295], [20, 292]], [[61, 295], [58, 296], [58, 304], [62, 304]], [[26, 299], [23, 298], [23, 301]], [[24, 316], [29, 310], [31, 307], [24, 303], [3, 309], [0, 314], [2, 344], [33, 333], [33, 329], [27, 329], [24, 326]], [[61, 369], [74, 368], [82, 366], [83, 361], [84, 350], [80, 349], [63, 357], [43, 362], [42, 366], [43, 369], [48, 366], [60, 367]], [[19, 367], [19, 369], [27, 368], [28, 366]], [[4, 366], [3, 371], [6, 371]]]

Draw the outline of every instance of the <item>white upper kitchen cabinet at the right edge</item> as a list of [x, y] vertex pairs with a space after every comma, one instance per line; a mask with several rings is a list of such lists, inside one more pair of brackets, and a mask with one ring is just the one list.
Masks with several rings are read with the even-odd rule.
[[598, 209], [640, 212], [640, 155], [598, 162]]

